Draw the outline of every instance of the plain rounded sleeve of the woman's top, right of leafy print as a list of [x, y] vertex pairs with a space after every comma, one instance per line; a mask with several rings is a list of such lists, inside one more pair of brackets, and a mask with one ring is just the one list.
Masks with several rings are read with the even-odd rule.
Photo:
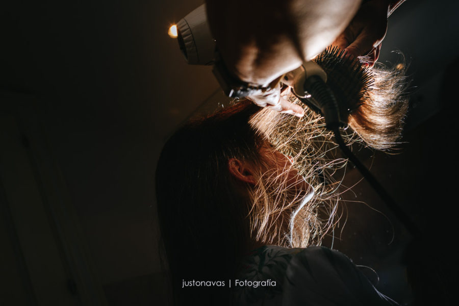
[[284, 306], [398, 305], [377, 291], [343, 253], [326, 247], [297, 253], [285, 277]]

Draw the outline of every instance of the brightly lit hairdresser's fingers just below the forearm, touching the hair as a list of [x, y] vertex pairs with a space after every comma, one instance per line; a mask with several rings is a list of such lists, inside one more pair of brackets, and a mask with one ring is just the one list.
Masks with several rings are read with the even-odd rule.
[[293, 104], [283, 97], [287, 94], [289, 88], [281, 92], [281, 85], [278, 79], [271, 84], [272, 88], [270, 90], [248, 96], [247, 98], [260, 107], [267, 107], [274, 111], [295, 115], [297, 117], [304, 116], [304, 110], [301, 106]]

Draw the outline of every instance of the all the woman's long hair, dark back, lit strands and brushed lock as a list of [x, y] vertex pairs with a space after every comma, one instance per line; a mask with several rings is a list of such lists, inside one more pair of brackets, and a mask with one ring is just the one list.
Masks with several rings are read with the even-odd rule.
[[[351, 108], [349, 125], [373, 147], [393, 145], [401, 130], [407, 101], [400, 99], [403, 78], [400, 71], [396, 73], [392, 80], [394, 73], [375, 74], [379, 80], [374, 78], [374, 91], [365, 92]], [[384, 95], [389, 95], [388, 103]], [[374, 112], [386, 121], [372, 122]], [[230, 294], [227, 286], [187, 289], [182, 281], [227, 281], [253, 241], [287, 247], [319, 245], [333, 228], [340, 185], [334, 173], [346, 160], [333, 154], [337, 146], [322, 117], [308, 109], [305, 113], [297, 118], [243, 100], [187, 123], [167, 141], [158, 161], [156, 193], [177, 304], [229, 302], [229, 297], [222, 298]], [[347, 139], [355, 139], [348, 132]], [[270, 170], [269, 161], [260, 155], [266, 143], [292, 158], [292, 167], [314, 187], [309, 202]], [[256, 186], [231, 175], [231, 158], [260, 170]]]

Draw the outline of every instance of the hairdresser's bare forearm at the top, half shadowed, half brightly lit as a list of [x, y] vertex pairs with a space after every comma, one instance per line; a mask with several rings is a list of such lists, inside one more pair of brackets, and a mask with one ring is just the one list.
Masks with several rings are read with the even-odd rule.
[[207, 0], [208, 19], [228, 69], [266, 84], [320, 53], [344, 30], [360, 0]]

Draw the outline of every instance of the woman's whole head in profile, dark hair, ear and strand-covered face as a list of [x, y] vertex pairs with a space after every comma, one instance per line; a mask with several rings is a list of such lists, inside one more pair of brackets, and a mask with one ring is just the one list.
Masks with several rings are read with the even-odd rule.
[[157, 205], [177, 286], [231, 275], [254, 245], [290, 245], [292, 215], [314, 188], [251, 123], [260, 111], [242, 101], [186, 124], [164, 146]]

